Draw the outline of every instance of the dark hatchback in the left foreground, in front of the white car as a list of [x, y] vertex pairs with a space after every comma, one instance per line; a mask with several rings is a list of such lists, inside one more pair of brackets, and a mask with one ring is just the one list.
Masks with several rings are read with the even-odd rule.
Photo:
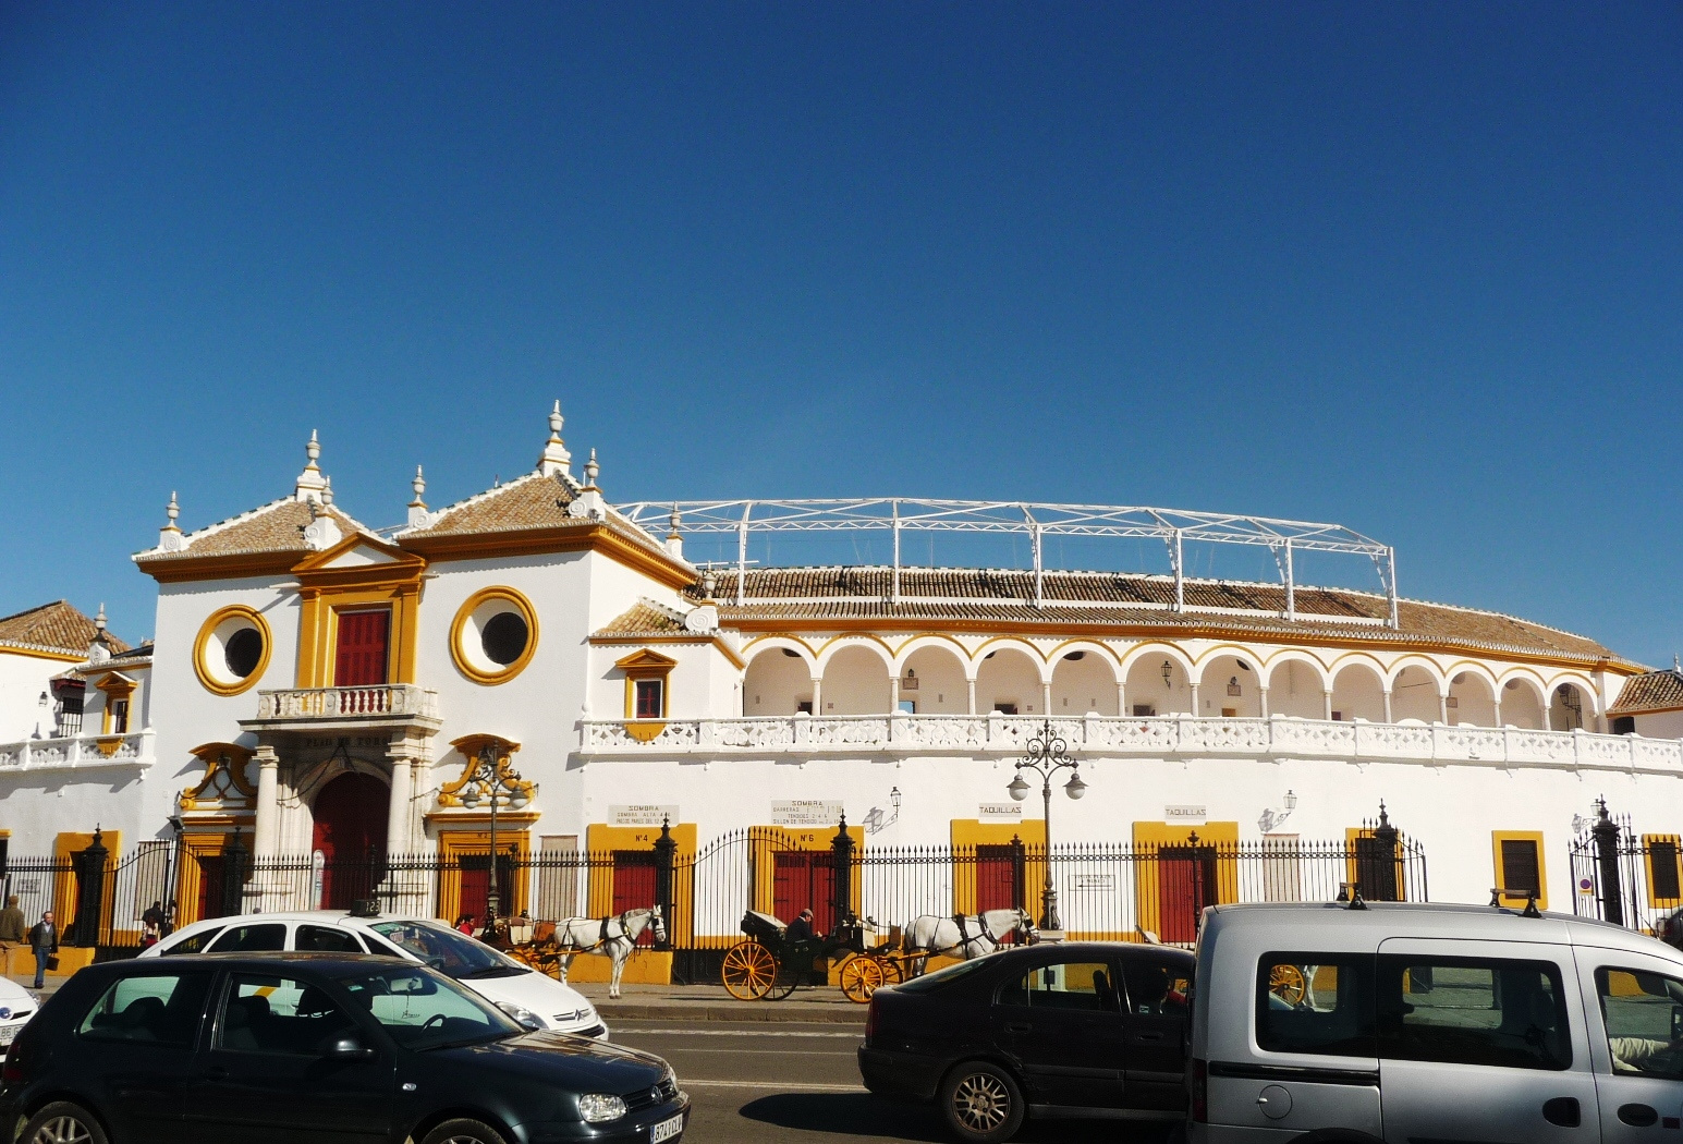
[[663, 1144], [688, 1112], [658, 1057], [360, 954], [93, 966], [0, 1073], [0, 1141], [20, 1144]]

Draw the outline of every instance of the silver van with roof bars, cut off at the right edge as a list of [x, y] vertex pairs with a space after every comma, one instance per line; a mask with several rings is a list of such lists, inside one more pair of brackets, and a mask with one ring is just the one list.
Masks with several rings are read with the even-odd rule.
[[1473, 905], [1224, 905], [1190, 1144], [1683, 1144], [1683, 954]]

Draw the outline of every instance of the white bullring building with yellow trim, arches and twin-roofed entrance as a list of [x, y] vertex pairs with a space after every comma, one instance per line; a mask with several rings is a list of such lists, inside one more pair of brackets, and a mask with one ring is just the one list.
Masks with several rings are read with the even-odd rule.
[[[1432, 900], [1483, 902], [1501, 885], [1572, 908], [1569, 848], [1597, 797], [1629, 816], [1631, 838], [1683, 826], [1683, 676], [1513, 616], [1400, 597], [1392, 550], [1346, 528], [916, 500], [614, 506], [594, 453], [574, 473], [559, 405], [550, 426], [530, 473], [456, 505], [429, 508], [417, 471], [396, 528], [335, 503], [315, 439], [268, 505], [182, 532], [172, 500], [158, 545], [135, 557], [158, 582], [150, 654], [126, 673], [56, 665], [91, 696], [128, 688], [145, 720], [125, 732], [145, 739], [126, 754], [76, 747], [88, 735], [0, 747], [10, 853], [74, 853], [96, 824], [114, 855], [178, 846], [163, 893], [183, 920], [219, 908], [231, 846], [256, 863], [247, 908], [298, 903], [298, 878], [264, 861], [313, 870], [315, 905], [350, 892], [335, 875], [347, 856], [416, 856], [431, 865], [380, 866], [379, 892], [471, 912], [486, 863], [466, 856], [490, 841], [488, 787], [470, 774], [483, 755], [512, 792], [500, 850], [633, 856], [592, 868], [581, 912], [646, 897], [634, 855], [663, 823], [703, 877], [720, 838], [823, 855], [843, 813], [860, 855], [968, 855], [976, 885], [931, 907], [954, 912], [1000, 903], [986, 861], [1045, 843], [1038, 779], [1027, 801], [1006, 787], [1047, 720], [1087, 791], [1057, 792], [1057, 845], [1277, 858], [1362, 834], [1383, 802], [1429, 861]], [[858, 533], [892, 555], [766, 555]], [[934, 538], [1015, 542], [1027, 567], [900, 562], [902, 543]], [[1069, 538], [1156, 545], [1168, 572], [1047, 567]], [[1272, 553], [1279, 580], [1185, 572], [1190, 552], [1230, 543]], [[705, 545], [719, 562], [693, 560]], [[1296, 582], [1330, 557], [1372, 560], [1377, 591]], [[1621, 707], [1633, 686], [1639, 703]], [[767, 861], [752, 843], [742, 853]], [[1281, 861], [1257, 895], [1299, 885]], [[1168, 882], [1146, 893], [1080, 870], [1059, 875], [1070, 930], [1183, 937]], [[1032, 907], [1042, 873], [1028, 873]], [[569, 908], [555, 878], [528, 875], [505, 890], [517, 907]], [[767, 905], [821, 897], [794, 858], [762, 875], [751, 893]], [[1250, 893], [1242, 882], [1217, 873], [1197, 893]], [[1675, 893], [1676, 871], [1648, 882]], [[1094, 905], [1106, 895], [1121, 905]], [[1124, 924], [1082, 925], [1082, 910]]]

